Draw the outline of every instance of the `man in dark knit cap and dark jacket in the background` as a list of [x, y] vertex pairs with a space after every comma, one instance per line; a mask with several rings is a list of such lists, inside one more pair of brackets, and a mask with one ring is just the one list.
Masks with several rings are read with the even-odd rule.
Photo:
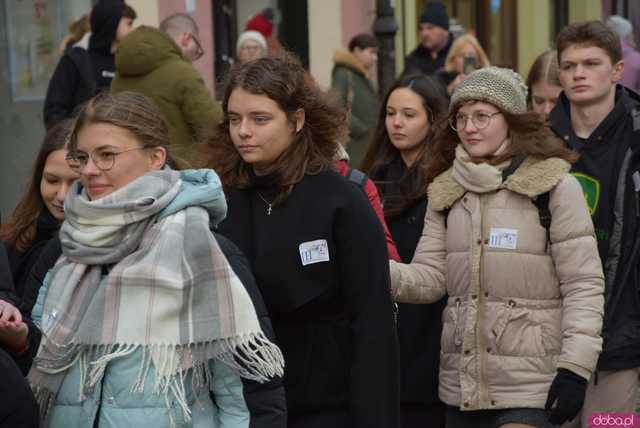
[[433, 74], [444, 67], [453, 36], [449, 33], [447, 7], [431, 1], [420, 16], [420, 44], [405, 59], [403, 74]]

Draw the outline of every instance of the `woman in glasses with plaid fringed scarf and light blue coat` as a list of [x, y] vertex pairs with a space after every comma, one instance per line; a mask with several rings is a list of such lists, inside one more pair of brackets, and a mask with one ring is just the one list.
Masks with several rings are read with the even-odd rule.
[[75, 121], [62, 256], [33, 309], [29, 373], [43, 426], [248, 427], [241, 378], [282, 375], [279, 349], [209, 230], [211, 170], [172, 169], [162, 113], [104, 93]]

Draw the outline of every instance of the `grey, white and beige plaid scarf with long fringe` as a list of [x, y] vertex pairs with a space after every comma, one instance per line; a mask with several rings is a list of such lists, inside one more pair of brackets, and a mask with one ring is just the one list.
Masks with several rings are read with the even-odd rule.
[[95, 201], [74, 184], [29, 373], [43, 420], [71, 366], [80, 364], [84, 398], [109, 361], [136, 350], [131, 392], [143, 391], [153, 366], [154, 393], [173, 394], [186, 420], [185, 373], [193, 370], [194, 389], [208, 386], [213, 358], [248, 379], [282, 376], [282, 354], [209, 230], [210, 215], [218, 223], [225, 214], [209, 170], [148, 173]]

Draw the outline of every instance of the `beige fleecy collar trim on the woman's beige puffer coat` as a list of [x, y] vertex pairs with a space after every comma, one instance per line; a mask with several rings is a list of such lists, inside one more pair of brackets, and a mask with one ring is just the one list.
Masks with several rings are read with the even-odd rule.
[[[540, 159], [529, 156], [502, 183], [501, 188], [534, 198], [553, 189], [570, 168], [569, 162], [560, 158]], [[467, 189], [453, 178], [452, 168], [449, 168], [429, 185], [429, 205], [435, 211], [442, 211], [450, 208], [466, 192]]]

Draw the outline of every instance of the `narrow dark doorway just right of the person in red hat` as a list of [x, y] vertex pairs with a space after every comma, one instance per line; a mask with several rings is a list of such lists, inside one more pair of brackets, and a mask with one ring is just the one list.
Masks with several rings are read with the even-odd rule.
[[309, 69], [309, 24], [307, 21], [307, 1], [278, 0], [281, 19], [278, 25], [278, 39], [282, 46], [294, 52], [302, 65]]

